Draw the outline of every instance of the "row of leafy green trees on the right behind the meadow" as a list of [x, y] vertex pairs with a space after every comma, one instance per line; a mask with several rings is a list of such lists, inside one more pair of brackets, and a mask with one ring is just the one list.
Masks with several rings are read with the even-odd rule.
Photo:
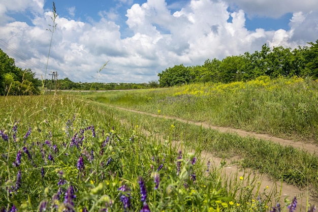
[[161, 87], [195, 82], [233, 82], [255, 79], [259, 76], [318, 78], [318, 40], [308, 46], [270, 49], [266, 44], [261, 51], [245, 52], [226, 58], [207, 59], [202, 66], [185, 67], [183, 64], [158, 74]]

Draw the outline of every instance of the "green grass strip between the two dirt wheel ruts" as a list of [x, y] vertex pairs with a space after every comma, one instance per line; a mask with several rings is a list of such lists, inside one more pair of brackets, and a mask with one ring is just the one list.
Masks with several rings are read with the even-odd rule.
[[132, 126], [139, 126], [148, 131], [149, 135], [156, 135], [163, 140], [169, 139], [168, 127], [173, 125], [175, 130], [171, 136], [175, 140], [182, 141], [185, 146], [197, 150], [205, 149], [219, 158], [229, 159], [239, 156], [242, 160], [238, 162], [243, 168], [258, 170], [275, 180], [283, 180], [299, 188], [308, 187], [318, 199], [318, 157], [314, 154], [267, 140], [220, 133], [174, 119], [123, 111], [103, 103], [92, 104], [117, 114], [119, 119], [129, 120], [129, 123], [134, 123]]

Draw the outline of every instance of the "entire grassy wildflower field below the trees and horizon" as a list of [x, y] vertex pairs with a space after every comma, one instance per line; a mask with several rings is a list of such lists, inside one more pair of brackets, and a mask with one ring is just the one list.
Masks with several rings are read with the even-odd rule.
[[[316, 147], [317, 86], [310, 79], [260, 77], [1, 97], [0, 209], [314, 211], [315, 152], [204, 125]], [[204, 159], [207, 154], [219, 163]], [[240, 171], [225, 174], [229, 165]], [[254, 173], [276, 183], [264, 187]], [[304, 193], [285, 197], [280, 185]]]

